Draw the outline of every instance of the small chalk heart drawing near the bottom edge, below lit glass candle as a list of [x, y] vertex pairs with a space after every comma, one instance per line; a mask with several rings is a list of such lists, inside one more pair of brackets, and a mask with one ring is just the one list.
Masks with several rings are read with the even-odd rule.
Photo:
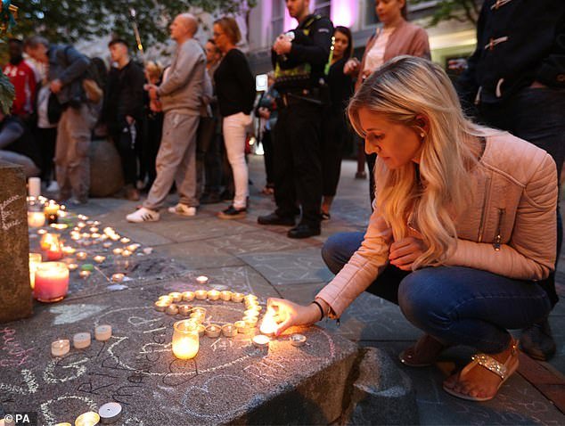
[[[230, 391], [229, 398], [217, 398]], [[182, 404], [188, 414], [217, 421], [242, 410], [255, 390], [241, 376], [221, 374], [205, 381], [202, 386], [192, 386], [184, 393]], [[217, 403], [216, 405], [214, 403]]]

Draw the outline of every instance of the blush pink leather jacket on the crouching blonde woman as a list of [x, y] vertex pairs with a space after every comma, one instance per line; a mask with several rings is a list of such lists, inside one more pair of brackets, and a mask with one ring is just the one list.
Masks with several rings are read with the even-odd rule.
[[[457, 248], [446, 265], [520, 280], [546, 278], [554, 269], [557, 238], [557, 170], [552, 157], [501, 132], [487, 136], [479, 168], [471, 206], [455, 224]], [[388, 266], [392, 242], [389, 225], [375, 209], [361, 247], [316, 299], [323, 299], [339, 317]]]

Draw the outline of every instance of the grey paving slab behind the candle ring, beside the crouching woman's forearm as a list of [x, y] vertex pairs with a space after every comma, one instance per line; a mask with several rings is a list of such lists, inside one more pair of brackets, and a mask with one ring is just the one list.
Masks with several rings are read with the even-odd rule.
[[240, 258], [257, 269], [273, 285], [320, 283], [333, 276], [323, 263], [318, 247], [281, 253], [246, 254]]

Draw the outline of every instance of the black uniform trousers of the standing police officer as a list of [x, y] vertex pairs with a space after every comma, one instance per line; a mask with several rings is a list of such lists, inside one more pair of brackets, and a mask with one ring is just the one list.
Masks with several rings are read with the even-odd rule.
[[297, 201], [301, 224], [320, 226], [322, 108], [296, 102], [279, 111], [274, 127], [274, 201], [279, 217], [294, 217]]

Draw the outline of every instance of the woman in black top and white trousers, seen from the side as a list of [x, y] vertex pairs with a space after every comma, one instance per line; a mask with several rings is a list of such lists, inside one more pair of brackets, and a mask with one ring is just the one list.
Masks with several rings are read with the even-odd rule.
[[217, 103], [222, 115], [225, 151], [233, 171], [235, 196], [230, 207], [218, 213], [222, 219], [245, 217], [249, 195], [249, 172], [245, 161], [245, 139], [251, 124], [250, 112], [255, 100], [255, 81], [245, 55], [235, 45], [242, 38], [233, 18], [214, 22], [214, 41], [223, 53], [214, 73]]

